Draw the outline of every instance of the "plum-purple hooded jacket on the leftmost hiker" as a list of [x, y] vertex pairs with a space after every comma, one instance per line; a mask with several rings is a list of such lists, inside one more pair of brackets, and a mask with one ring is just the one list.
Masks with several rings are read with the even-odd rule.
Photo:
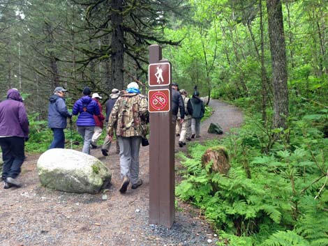
[[29, 137], [29, 120], [22, 97], [15, 89], [7, 93], [7, 100], [0, 103], [0, 136]]

